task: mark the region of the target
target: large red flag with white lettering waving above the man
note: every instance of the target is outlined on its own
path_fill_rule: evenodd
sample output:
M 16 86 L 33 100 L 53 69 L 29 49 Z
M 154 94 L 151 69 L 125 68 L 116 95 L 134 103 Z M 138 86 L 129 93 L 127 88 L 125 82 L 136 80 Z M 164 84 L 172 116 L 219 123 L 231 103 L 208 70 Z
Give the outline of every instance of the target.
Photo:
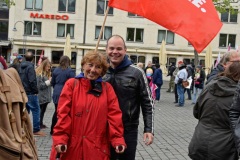
M 110 0 L 186 38 L 200 53 L 222 27 L 212 0 Z

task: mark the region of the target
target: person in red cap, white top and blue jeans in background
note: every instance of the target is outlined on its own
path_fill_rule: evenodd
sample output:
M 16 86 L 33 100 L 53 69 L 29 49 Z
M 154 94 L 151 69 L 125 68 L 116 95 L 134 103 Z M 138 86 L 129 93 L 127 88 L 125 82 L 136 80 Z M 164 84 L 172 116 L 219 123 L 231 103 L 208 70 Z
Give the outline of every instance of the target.
M 178 104 L 176 105 L 176 107 L 183 107 L 185 102 L 185 97 L 184 97 L 184 87 L 182 85 L 182 82 L 187 80 L 188 74 L 186 70 L 186 65 L 183 63 L 183 61 L 178 62 L 178 68 L 179 68 L 179 71 L 174 81 L 175 84 L 177 84 L 177 93 L 178 93 Z

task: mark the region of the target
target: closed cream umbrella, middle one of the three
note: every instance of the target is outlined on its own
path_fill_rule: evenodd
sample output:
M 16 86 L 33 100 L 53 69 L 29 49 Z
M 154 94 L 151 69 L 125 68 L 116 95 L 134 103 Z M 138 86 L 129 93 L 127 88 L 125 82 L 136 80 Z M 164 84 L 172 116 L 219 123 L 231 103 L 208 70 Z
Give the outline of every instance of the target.
M 159 52 L 159 63 L 160 63 L 160 68 L 162 70 L 163 74 L 167 74 L 167 51 L 166 51 L 166 43 L 164 40 L 162 40 L 160 52 Z

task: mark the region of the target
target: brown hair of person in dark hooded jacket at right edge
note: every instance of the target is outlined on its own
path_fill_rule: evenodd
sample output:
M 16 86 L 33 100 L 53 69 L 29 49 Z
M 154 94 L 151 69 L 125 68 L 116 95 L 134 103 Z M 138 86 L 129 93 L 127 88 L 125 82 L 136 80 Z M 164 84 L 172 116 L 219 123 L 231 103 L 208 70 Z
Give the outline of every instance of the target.
M 224 72 L 220 75 L 226 76 L 235 82 L 240 80 L 240 62 L 233 62 Z

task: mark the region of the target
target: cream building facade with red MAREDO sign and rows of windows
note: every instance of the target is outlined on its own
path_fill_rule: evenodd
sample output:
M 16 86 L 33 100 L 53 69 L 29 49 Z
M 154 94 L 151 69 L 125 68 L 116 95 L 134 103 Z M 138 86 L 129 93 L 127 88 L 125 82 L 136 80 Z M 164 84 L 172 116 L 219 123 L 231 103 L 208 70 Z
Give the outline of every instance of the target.
M 16 0 L 15 3 L 9 14 L 8 38 L 13 48 L 8 59 L 31 50 L 35 63 L 44 52 L 57 66 L 69 33 L 72 68 L 79 72 L 84 53 L 96 47 L 108 0 Z M 226 52 L 229 43 L 232 49 L 240 45 L 239 14 L 226 12 L 219 17 L 224 25 L 210 43 L 213 59 L 219 52 Z M 104 52 L 107 38 L 114 34 L 125 39 L 128 55 L 134 63 L 158 63 L 162 40 L 166 41 L 167 64 L 178 60 L 190 63 L 194 59 L 194 48 L 183 37 L 138 15 L 110 8 L 99 51 Z M 199 64 L 203 66 L 205 52 L 206 49 L 199 54 Z

